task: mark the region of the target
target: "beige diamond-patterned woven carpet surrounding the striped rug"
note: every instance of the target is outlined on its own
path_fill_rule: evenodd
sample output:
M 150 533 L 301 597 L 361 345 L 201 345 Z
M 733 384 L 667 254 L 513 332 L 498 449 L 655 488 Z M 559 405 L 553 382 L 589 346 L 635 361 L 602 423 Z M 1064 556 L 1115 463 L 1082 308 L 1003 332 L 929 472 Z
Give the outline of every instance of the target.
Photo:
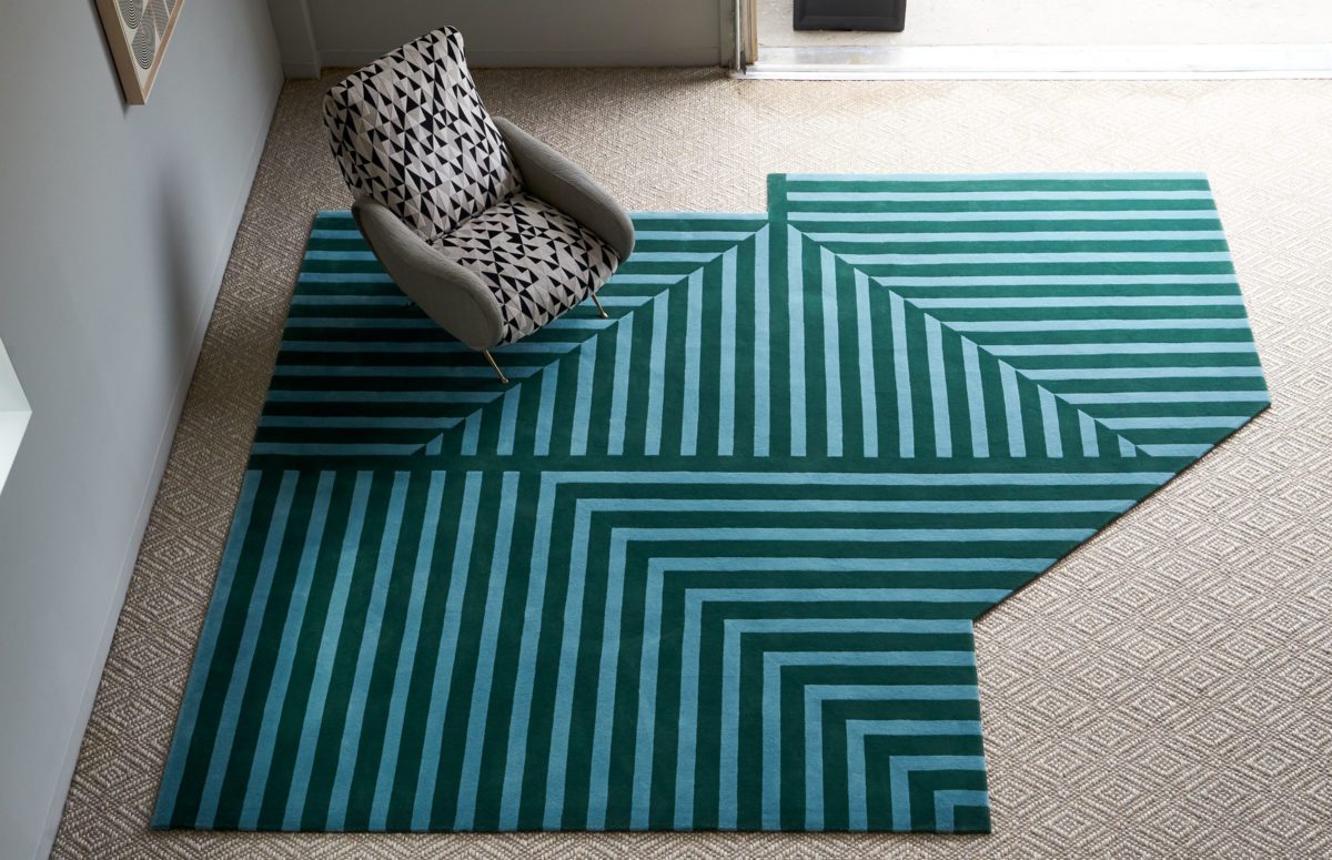
M 151 832 L 309 221 L 349 202 L 318 114 L 332 79 L 293 83 L 55 856 L 1332 855 L 1332 84 L 478 77 L 631 209 L 761 210 L 782 170 L 1207 170 L 1275 405 L 978 623 L 991 836 Z

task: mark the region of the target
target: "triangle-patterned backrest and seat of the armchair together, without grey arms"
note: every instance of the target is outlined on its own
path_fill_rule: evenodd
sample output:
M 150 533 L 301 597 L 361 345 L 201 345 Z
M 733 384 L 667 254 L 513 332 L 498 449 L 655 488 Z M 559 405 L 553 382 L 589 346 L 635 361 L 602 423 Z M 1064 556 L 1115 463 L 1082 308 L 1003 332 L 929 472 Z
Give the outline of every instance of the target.
M 500 343 L 582 302 L 619 265 L 598 236 L 523 193 L 452 27 L 348 77 L 329 91 L 324 114 L 352 192 L 490 286 Z

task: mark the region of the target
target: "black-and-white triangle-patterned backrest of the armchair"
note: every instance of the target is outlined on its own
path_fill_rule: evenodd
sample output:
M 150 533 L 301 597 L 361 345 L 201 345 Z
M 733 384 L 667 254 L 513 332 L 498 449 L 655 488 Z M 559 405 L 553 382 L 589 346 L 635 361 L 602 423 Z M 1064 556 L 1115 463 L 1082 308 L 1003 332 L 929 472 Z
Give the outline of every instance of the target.
M 336 85 L 324 121 L 352 192 L 384 204 L 426 241 L 521 186 L 452 27 Z

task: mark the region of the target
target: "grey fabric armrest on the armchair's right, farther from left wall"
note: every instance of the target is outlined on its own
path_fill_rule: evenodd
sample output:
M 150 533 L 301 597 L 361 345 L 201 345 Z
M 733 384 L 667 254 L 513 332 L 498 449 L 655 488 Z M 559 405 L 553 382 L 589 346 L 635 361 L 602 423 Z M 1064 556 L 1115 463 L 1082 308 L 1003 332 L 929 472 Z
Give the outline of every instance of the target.
M 595 233 L 621 260 L 634 250 L 634 224 L 615 198 L 574 162 L 503 117 L 494 118 L 523 186 Z

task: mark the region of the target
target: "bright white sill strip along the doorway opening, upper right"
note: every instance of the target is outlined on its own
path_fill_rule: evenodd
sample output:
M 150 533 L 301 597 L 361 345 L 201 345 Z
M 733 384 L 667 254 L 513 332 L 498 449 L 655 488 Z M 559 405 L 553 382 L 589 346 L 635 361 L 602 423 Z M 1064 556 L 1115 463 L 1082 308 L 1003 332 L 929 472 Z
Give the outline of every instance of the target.
M 759 47 L 771 80 L 1325 79 L 1332 44 Z

